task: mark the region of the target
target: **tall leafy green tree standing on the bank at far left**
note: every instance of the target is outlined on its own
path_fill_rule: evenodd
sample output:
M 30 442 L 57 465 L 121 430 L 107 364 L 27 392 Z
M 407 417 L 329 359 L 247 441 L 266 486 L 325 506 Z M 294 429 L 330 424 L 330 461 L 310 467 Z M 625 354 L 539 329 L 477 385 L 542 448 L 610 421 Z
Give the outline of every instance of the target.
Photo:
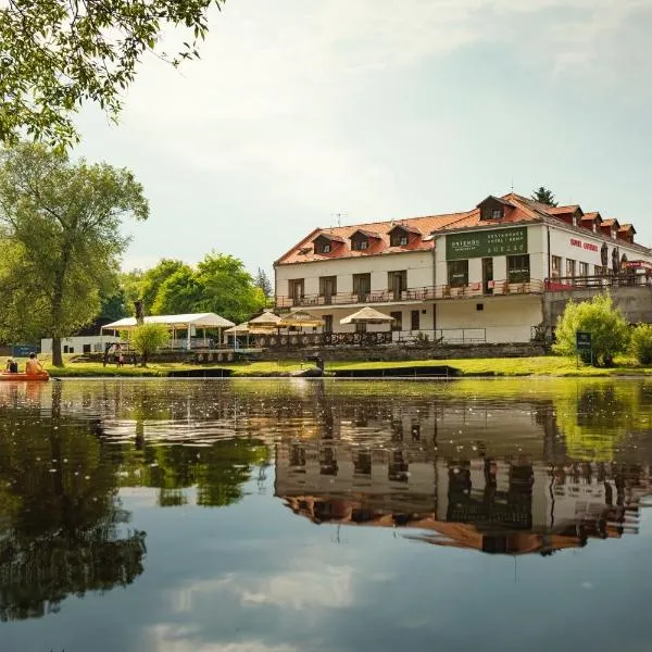
M 60 151 L 21 143 L 0 153 L 0 335 L 61 338 L 98 314 L 128 243 L 124 217 L 146 220 L 142 186 L 125 168 L 72 163 Z

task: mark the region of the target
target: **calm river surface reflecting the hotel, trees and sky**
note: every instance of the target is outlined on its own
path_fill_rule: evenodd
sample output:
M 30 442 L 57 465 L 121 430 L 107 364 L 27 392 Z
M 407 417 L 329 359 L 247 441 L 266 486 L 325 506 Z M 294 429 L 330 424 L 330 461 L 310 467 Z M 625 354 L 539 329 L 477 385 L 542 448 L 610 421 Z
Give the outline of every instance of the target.
M 652 649 L 652 383 L 0 384 L 2 652 Z

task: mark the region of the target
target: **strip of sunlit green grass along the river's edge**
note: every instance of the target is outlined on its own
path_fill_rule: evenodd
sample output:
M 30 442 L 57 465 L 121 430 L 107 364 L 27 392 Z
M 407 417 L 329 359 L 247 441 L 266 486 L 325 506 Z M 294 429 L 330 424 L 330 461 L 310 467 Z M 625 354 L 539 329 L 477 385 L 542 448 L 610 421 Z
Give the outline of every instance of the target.
M 0 363 L 1 364 L 1 363 Z M 251 362 L 236 364 L 197 365 L 183 363 L 152 363 L 147 367 L 115 365 L 104 367 L 99 363 L 74 362 L 70 360 L 63 368 L 52 367 L 49 360 L 43 360 L 46 368 L 52 377 L 166 377 L 174 373 L 193 369 L 215 373 L 227 369 L 233 377 L 274 377 L 287 376 L 292 373 L 311 368 L 301 360 L 285 360 L 279 362 Z M 418 367 L 447 365 L 459 369 L 459 376 L 478 377 L 604 377 L 604 376 L 647 376 L 652 367 L 638 365 L 630 359 L 616 359 L 612 368 L 595 368 L 580 364 L 576 367 L 575 359 L 560 356 L 544 358 L 487 358 L 464 360 L 422 360 L 404 362 L 329 362 L 326 364 L 326 375 L 344 369 L 372 369 L 375 373 L 383 369 L 405 368 L 412 375 Z M 410 371 L 409 371 L 410 369 Z

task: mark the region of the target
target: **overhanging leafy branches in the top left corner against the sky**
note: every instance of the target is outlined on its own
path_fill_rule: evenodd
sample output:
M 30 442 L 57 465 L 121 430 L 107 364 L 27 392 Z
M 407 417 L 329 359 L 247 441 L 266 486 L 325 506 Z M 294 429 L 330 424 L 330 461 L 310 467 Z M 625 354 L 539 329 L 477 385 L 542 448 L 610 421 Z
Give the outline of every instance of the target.
M 8 0 L 0 7 L 0 141 L 25 131 L 50 145 L 77 139 L 72 115 L 96 102 L 116 120 L 148 51 L 173 65 L 197 59 L 208 12 L 225 0 Z M 167 26 L 190 33 L 159 51 Z

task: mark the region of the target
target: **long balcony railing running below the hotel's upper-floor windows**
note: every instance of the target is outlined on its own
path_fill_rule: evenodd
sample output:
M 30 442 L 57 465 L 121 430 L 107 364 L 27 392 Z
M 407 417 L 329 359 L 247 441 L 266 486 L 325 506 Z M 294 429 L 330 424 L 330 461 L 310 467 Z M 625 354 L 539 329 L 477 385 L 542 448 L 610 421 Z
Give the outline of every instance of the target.
M 276 308 L 311 308 L 322 305 L 350 305 L 355 303 L 396 303 L 402 301 L 432 301 L 435 299 L 456 299 L 494 294 L 529 294 L 540 293 L 543 289 L 544 281 L 542 280 L 529 280 L 525 283 L 490 280 L 487 284 L 472 283 L 465 286 L 427 286 L 423 288 L 409 288 L 401 291 L 374 290 L 371 292 L 338 292 L 337 294 L 331 296 L 277 296 Z

